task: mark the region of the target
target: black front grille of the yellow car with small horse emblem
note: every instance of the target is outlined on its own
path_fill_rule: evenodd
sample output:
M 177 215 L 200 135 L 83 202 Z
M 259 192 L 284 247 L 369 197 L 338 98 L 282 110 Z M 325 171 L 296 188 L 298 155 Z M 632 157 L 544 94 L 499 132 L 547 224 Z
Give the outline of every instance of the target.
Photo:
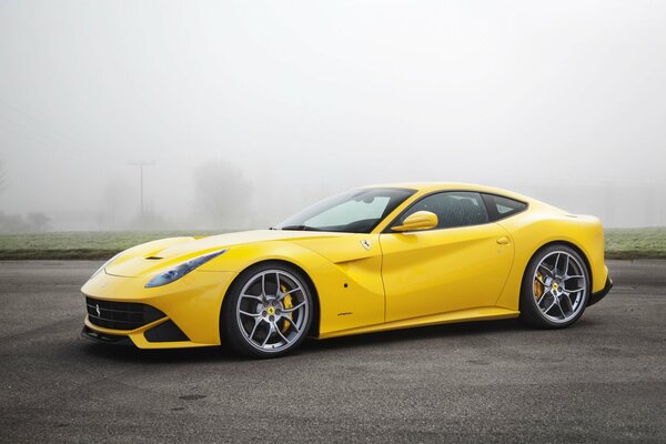
M 113 330 L 134 330 L 165 316 L 147 304 L 137 302 L 111 302 L 85 297 L 88 319 L 94 325 Z

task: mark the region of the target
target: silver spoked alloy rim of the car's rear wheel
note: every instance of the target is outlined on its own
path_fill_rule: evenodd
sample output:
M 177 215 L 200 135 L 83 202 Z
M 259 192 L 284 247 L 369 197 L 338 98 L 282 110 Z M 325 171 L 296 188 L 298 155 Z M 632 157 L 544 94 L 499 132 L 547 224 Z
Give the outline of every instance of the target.
M 566 251 L 546 254 L 534 272 L 532 292 L 536 306 L 551 322 L 562 324 L 574 319 L 587 291 L 587 278 L 581 261 Z

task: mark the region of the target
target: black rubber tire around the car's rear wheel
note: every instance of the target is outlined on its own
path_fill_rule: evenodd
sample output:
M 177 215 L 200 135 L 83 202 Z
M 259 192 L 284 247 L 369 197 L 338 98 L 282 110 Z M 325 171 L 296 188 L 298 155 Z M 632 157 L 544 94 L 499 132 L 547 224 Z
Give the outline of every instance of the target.
M 565 265 L 555 262 L 558 260 L 557 253 L 561 253 L 559 260 L 568 255 Z M 545 262 L 539 266 L 542 261 Z M 554 273 L 553 278 L 551 278 L 546 274 L 548 271 L 553 271 L 548 270 L 548 265 L 553 265 L 554 262 Z M 572 269 L 575 269 L 575 273 L 577 274 L 565 280 L 557 279 L 557 276 L 567 276 L 569 274 L 566 270 L 563 272 L 564 266 L 568 268 L 568 272 L 571 272 Z M 541 280 L 536 274 L 537 268 L 539 269 Z M 582 278 L 575 278 L 578 275 Z M 542 283 L 542 280 L 544 283 Z M 574 280 L 576 282 L 572 284 L 571 282 Z M 551 283 L 551 285 L 545 285 L 546 282 Z M 572 285 L 576 285 L 576 289 L 581 290 L 577 292 L 568 292 L 568 294 L 572 294 L 568 295 L 567 291 L 563 292 L 562 290 L 567 290 L 566 285 L 568 285 L 569 289 L 572 289 Z M 519 303 L 521 320 L 539 329 L 564 329 L 569 326 L 583 315 L 583 312 L 587 306 L 587 301 L 589 300 L 591 287 L 592 281 L 589 279 L 589 270 L 586 262 L 576 250 L 566 244 L 552 244 L 543 248 L 534 254 L 527 264 L 523 276 Z M 559 295 L 556 295 L 557 293 L 559 293 Z M 552 299 L 552 303 L 548 297 Z M 562 297 L 567 297 L 567 300 Z M 539 305 L 537 305 L 537 301 L 541 303 L 541 309 Z M 551 307 L 552 310 L 544 313 L 547 307 Z M 571 309 L 571 312 L 568 309 Z

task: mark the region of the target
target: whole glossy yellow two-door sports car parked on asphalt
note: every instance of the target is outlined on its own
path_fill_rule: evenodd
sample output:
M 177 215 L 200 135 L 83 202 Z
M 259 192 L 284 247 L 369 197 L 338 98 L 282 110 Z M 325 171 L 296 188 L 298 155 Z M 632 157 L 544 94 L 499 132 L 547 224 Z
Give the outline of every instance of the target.
M 305 336 L 517 316 L 564 327 L 612 285 L 597 218 L 488 186 L 376 185 L 270 230 L 118 254 L 81 289 L 82 334 L 269 357 Z

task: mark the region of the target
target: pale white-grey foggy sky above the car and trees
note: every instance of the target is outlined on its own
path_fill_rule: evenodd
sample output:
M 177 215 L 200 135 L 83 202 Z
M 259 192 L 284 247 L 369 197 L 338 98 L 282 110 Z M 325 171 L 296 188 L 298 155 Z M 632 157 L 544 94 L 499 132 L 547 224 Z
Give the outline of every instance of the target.
M 435 180 L 666 224 L 665 23 L 662 1 L 2 0 L 0 211 L 109 228 L 144 160 L 147 204 L 203 226 L 194 174 L 223 161 L 246 226 Z

